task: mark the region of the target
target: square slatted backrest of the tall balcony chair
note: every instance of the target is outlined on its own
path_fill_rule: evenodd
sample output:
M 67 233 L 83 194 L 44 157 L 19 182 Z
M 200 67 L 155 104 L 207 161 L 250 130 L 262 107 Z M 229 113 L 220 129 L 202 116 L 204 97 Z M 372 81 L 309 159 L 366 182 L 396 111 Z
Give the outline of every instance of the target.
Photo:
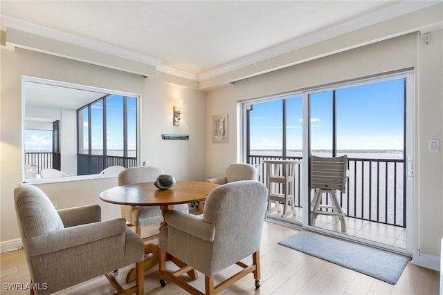
M 347 155 L 324 158 L 311 155 L 311 189 L 346 192 Z

